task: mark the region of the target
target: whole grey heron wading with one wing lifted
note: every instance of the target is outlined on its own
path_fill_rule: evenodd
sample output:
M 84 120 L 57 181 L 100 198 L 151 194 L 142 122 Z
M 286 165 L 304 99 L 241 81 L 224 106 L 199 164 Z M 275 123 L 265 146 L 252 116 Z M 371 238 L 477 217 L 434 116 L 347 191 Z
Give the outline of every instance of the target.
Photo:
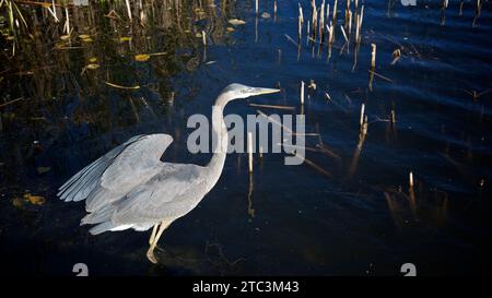
M 87 214 L 81 225 L 95 225 L 92 235 L 107 230 L 148 230 L 148 259 L 156 263 L 155 246 L 174 220 L 194 210 L 215 186 L 227 152 L 225 105 L 238 98 L 276 93 L 279 90 L 231 84 L 215 99 L 212 133 L 216 140 L 210 163 L 202 167 L 161 162 L 173 142 L 168 134 L 136 135 L 93 162 L 59 188 L 66 201 L 85 200 Z

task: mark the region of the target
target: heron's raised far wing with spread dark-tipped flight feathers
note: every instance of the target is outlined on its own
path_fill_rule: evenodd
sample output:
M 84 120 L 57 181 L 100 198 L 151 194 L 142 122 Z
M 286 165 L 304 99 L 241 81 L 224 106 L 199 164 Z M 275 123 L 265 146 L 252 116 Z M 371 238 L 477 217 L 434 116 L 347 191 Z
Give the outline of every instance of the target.
M 133 136 L 75 174 L 60 187 L 58 196 L 66 202 L 87 199 L 87 211 L 102 207 L 105 200 L 117 200 L 155 175 L 172 142 L 168 134 Z

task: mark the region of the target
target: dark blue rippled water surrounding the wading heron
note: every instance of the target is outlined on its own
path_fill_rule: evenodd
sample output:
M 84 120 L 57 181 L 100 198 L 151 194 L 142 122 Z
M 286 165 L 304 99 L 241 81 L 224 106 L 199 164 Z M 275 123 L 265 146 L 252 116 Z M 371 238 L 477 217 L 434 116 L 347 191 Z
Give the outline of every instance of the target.
M 91 274 L 104 275 L 399 275 L 407 262 L 422 275 L 488 271 L 490 2 L 483 1 L 476 17 L 475 1 L 464 1 L 462 15 L 459 1 L 449 1 L 444 14 L 441 1 L 417 1 L 418 7 L 365 1 L 359 51 L 351 41 L 349 52 L 341 52 L 344 40 L 337 28 L 329 58 L 326 45 L 318 52 L 318 44 L 306 45 L 304 35 L 298 52 L 285 37 L 297 40 L 297 1 L 278 1 L 276 17 L 273 1 L 260 1 L 260 12 L 271 17 L 257 20 L 254 1 L 227 7 L 215 1 L 202 11 L 184 2 L 179 29 L 165 16 L 150 17 L 154 25 L 144 28 L 114 24 L 102 15 L 107 7 L 92 3 L 90 17 L 81 9 L 73 21 L 92 43 L 55 49 L 60 38 L 46 29 L 51 35 L 44 33 L 46 39 L 37 37 L 42 41 L 24 45 L 2 64 L 0 104 L 24 98 L 0 108 L 2 274 L 71 275 L 80 262 Z M 302 1 L 305 19 L 311 19 L 308 2 Z M 122 8 L 118 13 L 126 20 Z M 233 17 L 246 24 L 227 33 Z M 202 29 L 209 36 L 206 52 L 196 37 Z M 119 41 L 124 36 L 132 41 Z M 375 72 L 389 81 L 376 75 L 370 88 L 372 43 Z M 390 64 L 399 47 L 402 56 Z M 134 61 L 142 52 L 160 55 Z M 99 68 L 81 73 L 92 57 Z M 284 166 L 281 154 L 265 154 L 261 162 L 256 156 L 248 200 L 247 156 L 229 155 L 215 188 L 164 233 L 159 266 L 145 258 L 149 233 L 91 236 L 86 226 L 79 227 L 83 203 L 56 198 L 70 176 L 138 133 L 169 133 L 175 143 L 164 159 L 204 165 L 210 156 L 186 151 L 191 132 L 186 121 L 194 114 L 210 116 L 224 86 L 280 85 L 281 94 L 249 102 L 294 106 L 298 114 L 300 82 L 311 80 L 317 88 L 308 91 L 304 105 L 306 131 L 320 138 L 307 136 L 306 145 L 323 142 L 335 155 L 308 151 L 306 158 L 331 177 L 308 165 Z M 120 90 L 105 81 L 141 87 Z M 473 98 L 473 91 L 482 94 Z M 360 142 L 362 103 L 370 124 Z M 234 102 L 226 112 L 246 117 L 256 109 Z M 391 109 L 395 124 L 388 121 Z M 26 202 L 25 193 L 46 202 Z

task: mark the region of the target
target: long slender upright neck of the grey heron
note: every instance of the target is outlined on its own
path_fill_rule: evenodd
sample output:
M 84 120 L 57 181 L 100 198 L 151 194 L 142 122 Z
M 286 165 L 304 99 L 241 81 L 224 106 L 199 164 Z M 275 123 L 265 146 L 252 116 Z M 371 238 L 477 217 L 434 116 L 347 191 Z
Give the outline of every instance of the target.
M 224 122 L 224 107 L 227 104 L 229 98 L 224 95 L 219 96 L 215 100 L 215 105 L 212 107 L 212 143 L 213 143 L 213 156 L 210 163 L 207 165 L 207 169 L 210 175 L 209 190 L 215 186 L 216 181 L 221 177 L 222 169 L 225 164 L 225 156 L 227 154 L 229 135 L 227 128 Z

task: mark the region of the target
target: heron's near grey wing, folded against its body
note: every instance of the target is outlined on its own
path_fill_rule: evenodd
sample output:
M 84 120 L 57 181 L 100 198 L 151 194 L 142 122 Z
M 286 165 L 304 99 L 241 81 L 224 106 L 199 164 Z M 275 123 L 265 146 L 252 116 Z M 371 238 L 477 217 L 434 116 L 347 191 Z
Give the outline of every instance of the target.
M 207 193 L 204 174 L 197 165 L 165 163 L 157 175 L 117 203 L 113 224 L 157 223 L 187 214 Z

